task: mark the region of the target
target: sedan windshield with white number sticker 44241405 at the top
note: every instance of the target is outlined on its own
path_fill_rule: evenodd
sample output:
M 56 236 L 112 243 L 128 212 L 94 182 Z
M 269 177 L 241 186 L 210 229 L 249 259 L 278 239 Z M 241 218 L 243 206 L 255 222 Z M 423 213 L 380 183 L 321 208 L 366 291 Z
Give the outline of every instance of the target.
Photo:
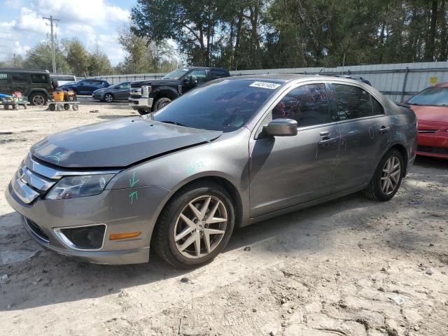
M 267 101 L 281 83 L 251 79 L 210 82 L 184 94 L 154 113 L 153 119 L 202 130 L 232 132 Z

